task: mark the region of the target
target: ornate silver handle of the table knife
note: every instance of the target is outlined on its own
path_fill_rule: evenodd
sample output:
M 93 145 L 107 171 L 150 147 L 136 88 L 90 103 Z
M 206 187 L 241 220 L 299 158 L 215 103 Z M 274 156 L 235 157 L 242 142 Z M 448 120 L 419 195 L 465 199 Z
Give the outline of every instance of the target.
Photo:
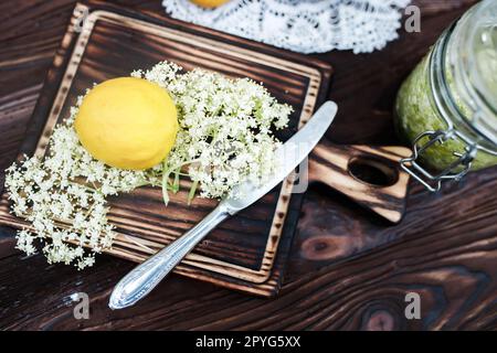
M 184 256 L 187 256 L 218 224 L 229 216 L 220 203 L 205 218 L 177 240 L 135 267 L 114 288 L 108 306 L 123 309 L 147 296 Z

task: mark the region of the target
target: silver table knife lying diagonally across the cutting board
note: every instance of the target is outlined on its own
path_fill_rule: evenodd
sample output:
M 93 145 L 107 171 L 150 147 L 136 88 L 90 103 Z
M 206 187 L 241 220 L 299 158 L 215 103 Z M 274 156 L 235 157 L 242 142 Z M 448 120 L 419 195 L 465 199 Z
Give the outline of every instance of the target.
M 273 172 L 262 185 L 245 181 L 233 189 L 232 195 L 222 200 L 205 218 L 134 268 L 114 288 L 110 309 L 123 309 L 135 304 L 147 296 L 215 226 L 226 217 L 248 207 L 282 182 L 311 152 L 337 115 L 334 101 L 325 103 L 318 111 L 289 140 L 276 151 L 283 165 Z M 297 152 L 298 151 L 298 152 Z M 292 158 L 288 158 L 290 156 Z

